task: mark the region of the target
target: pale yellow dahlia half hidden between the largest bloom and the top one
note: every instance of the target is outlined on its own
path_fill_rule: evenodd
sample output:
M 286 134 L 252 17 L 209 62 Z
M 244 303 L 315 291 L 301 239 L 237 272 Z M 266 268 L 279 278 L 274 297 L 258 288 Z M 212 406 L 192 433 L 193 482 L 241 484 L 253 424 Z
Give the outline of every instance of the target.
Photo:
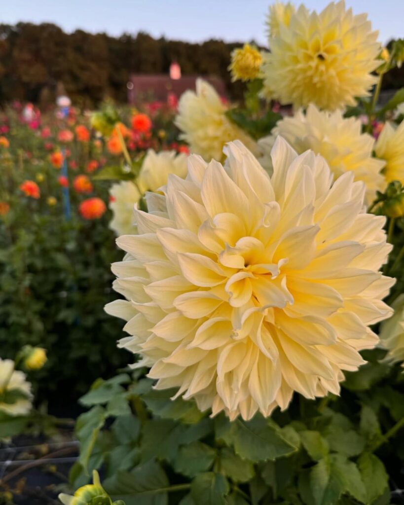
M 384 161 L 372 157 L 375 140 L 362 133 L 362 123 L 355 117 L 344 118 L 341 111 L 322 112 L 310 104 L 306 114 L 298 110 L 293 117 L 278 121 L 272 134 L 259 140 L 261 164 L 271 168 L 271 149 L 280 135 L 298 154 L 312 149 L 323 156 L 335 178 L 351 170 L 355 180 L 366 184 L 367 203 L 375 199 L 376 190 L 386 186 L 380 170 Z

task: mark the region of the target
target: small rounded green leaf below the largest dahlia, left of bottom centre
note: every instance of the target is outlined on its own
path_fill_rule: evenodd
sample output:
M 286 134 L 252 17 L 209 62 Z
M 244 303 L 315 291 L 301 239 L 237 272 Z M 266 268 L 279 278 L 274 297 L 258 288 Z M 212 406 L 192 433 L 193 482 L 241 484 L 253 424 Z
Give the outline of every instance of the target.
M 216 451 L 202 442 L 192 442 L 181 447 L 174 460 L 174 470 L 187 477 L 206 472 L 213 465 Z

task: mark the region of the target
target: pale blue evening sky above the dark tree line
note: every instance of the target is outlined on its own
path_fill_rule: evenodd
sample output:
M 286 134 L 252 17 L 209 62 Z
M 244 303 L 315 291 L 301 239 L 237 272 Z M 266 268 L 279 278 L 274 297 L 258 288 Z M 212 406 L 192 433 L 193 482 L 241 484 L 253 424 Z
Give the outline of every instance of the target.
M 82 28 L 111 35 L 146 31 L 153 36 L 201 41 L 255 39 L 265 44 L 264 20 L 271 0 L 12 0 L 2 2 L 3 23 L 49 21 L 67 31 Z M 301 2 L 294 2 L 295 5 Z M 306 0 L 321 10 L 327 0 Z M 347 0 L 354 13 L 367 12 L 379 39 L 404 37 L 402 0 Z

